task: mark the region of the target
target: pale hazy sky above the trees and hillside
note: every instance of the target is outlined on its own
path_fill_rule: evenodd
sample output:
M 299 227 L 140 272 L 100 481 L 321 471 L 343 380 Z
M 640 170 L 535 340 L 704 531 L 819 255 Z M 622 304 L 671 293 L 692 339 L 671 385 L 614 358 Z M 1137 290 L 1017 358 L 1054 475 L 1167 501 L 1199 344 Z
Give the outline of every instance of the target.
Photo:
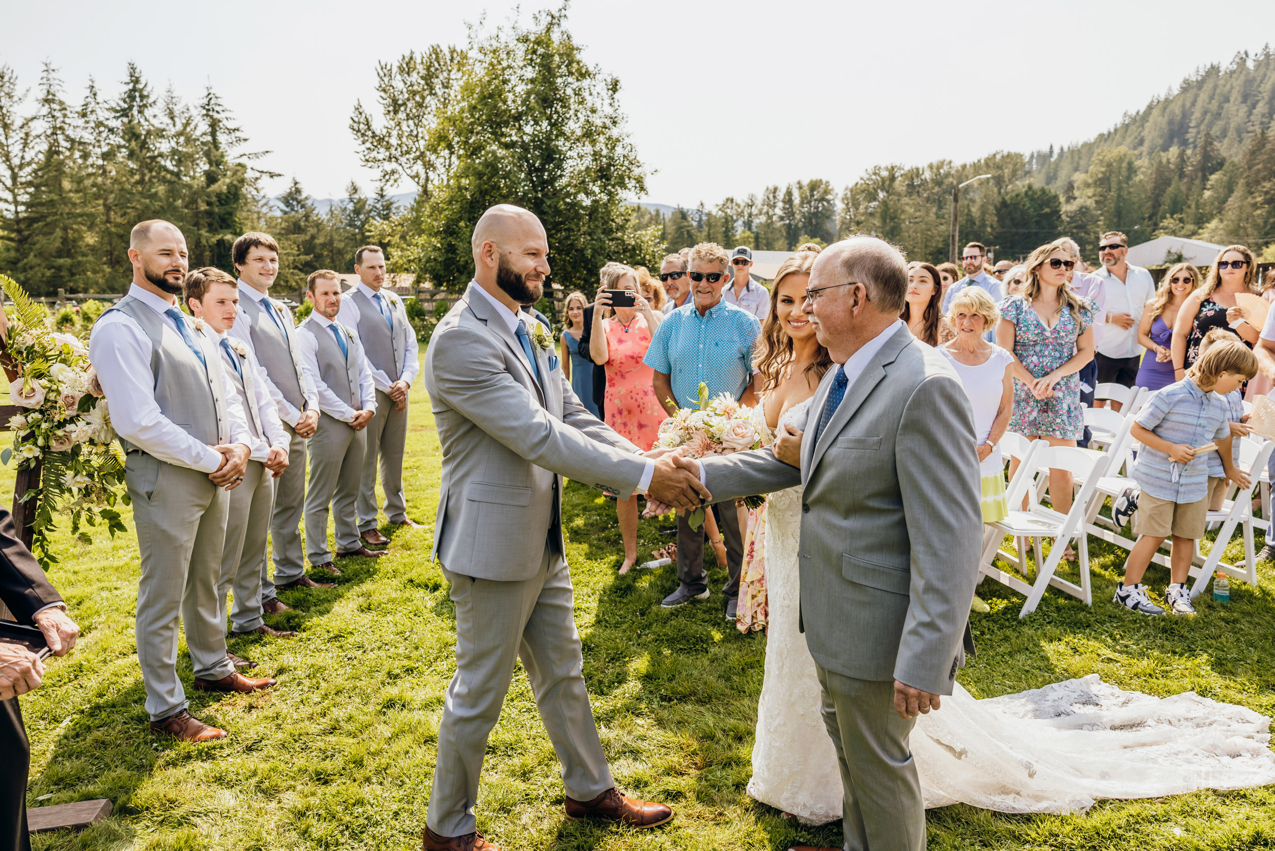
M 521 4 L 528 18 L 557 3 Z M 27 84 L 61 69 L 78 101 L 115 94 L 125 63 L 196 100 L 212 83 L 263 167 L 317 196 L 370 188 L 348 124 L 375 103 L 375 68 L 507 0 L 131 3 L 0 0 L 0 63 Z M 622 83 L 650 176 L 644 200 L 694 205 L 866 168 L 1086 139 L 1210 63 L 1275 33 L 1270 0 L 862 3 L 576 0 L 570 29 Z M 20 37 L 19 37 L 20 36 Z M 409 189 L 403 186 L 402 189 Z

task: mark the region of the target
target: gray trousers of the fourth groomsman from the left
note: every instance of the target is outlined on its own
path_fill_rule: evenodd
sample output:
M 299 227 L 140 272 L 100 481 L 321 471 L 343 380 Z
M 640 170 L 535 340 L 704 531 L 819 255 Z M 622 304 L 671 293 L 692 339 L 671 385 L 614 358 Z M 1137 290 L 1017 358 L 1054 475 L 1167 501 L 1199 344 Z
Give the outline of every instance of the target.
M 363 471 L 363 434 L 335 417 L 319 415 L 319 429 L 310 438 L 310 487 L 306 491 L 306 556 L 310 564 L 332 561 L 332 550 L 328 549 L 329 503 L 337 515 L 337 551 L 349 552 L 362 546 L 354 522 L 354 503 Z

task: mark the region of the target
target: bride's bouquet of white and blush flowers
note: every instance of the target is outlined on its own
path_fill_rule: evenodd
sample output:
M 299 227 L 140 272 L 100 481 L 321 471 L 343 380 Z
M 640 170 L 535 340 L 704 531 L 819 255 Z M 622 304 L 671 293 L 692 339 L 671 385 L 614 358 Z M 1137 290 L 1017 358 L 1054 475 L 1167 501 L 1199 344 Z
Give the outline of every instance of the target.
M 757 449 L 773 439 L 765 417 L 754 416 L 754 408 L 740 404 L 729 393 L 710 399 L 708 385 L 700 381 L 700 408 L 682 408 L 660 422 L 654 448 L 681 449 L 687 458 L 709 458 Z M 737 501 L 759 508 L 765 500 L 765 496 L 746 496 Z M 687 522 L 691 528 L 699 528 L 704 523 L 704 509 L 691 512 Z

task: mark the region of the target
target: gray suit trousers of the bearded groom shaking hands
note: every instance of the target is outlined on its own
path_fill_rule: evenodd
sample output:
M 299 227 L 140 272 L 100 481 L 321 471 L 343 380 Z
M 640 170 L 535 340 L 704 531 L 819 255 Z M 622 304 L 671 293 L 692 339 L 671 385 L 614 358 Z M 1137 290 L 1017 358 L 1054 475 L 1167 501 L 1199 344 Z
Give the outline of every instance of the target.
M 588 801 L 615 786 L 584 686 L 571 572 L 562 555 L 546 546 L 539 573 L 521 582 L 442 573 L 456 603 L 456 674 L 439 725 L 439 760 L 426 815 L 430 829 L 439 836 L 474 831 L 487 736 L 500 717 L 518 658 L 562 764 L 566 794 Z

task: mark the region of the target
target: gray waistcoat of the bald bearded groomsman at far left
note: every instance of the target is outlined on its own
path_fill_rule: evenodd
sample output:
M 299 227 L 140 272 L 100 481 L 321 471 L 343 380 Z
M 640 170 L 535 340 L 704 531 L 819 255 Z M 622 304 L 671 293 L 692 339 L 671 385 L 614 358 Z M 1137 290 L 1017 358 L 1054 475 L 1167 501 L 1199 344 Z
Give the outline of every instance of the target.
M 110 310 L 131 316 L 150 339 L 150 371 L 159 412 L 200 443 L 210 447 L 228 443 L 229 422 L 219 375 L 205 369 L 181 334 L 138 299 L 125 296 Z M 207 337 L 186 322 L 195 344 L 207 343 Z M 221 352 L 207 344 L 203 351 L 209 365 L 221 366 Z M 135 448 L 122 438 L 120 443 L 125 452 Z

